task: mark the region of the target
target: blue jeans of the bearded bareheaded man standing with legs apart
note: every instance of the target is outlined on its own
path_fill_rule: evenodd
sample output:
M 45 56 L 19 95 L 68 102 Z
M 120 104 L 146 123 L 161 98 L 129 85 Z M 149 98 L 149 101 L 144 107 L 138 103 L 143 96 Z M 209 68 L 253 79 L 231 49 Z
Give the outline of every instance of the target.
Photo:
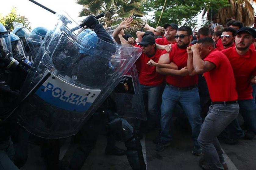
M 192 90 L 178 90 L 171 85 L 166 85 L 162 95 L 161 105 L 161 141 L 171 141 L 172 113 L 176 104 L 180 103 L 188 117 L 192 128 L 192 139 L 194 145 L 198 145 L 197 137 L 200 133 L 202 119 L 200 117 L 201 107 L 198 88 Z

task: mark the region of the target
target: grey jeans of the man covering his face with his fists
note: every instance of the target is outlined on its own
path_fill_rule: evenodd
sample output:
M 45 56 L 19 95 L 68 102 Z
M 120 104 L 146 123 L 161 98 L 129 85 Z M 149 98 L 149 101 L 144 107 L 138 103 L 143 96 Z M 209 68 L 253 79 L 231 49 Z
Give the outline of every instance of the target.
M 221 163 L 225 161 L 217 136 L 237 117 L 238 113 L 238 103 L 215 104 L 209 107 L 197 140 L 211 169 L 224 169 Z

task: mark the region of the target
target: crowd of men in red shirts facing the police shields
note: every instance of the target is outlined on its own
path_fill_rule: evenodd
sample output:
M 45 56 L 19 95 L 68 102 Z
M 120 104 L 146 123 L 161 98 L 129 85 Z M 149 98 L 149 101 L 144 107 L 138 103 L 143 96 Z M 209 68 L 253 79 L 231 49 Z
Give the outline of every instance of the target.
M 142 49 L 136 67 L 148 116 L 146 129 L 159 130 L 155 150 L 170 145 L 172 115 L 183 112 L 192 129 L 192 153 L 204 154 L 200 167 L 227 170 L 218 138 L 235 144 L 256 134 L 255 29 L 235 19 L 222 26 L 216 18 L 198 31 L 175 23 L 156 28 L 147 24 L 146 32 L 132 37 L 123 31 L 131 22 L 124 19 L 113 38 Z M 140 122 L 135 127 L 142 128 Z

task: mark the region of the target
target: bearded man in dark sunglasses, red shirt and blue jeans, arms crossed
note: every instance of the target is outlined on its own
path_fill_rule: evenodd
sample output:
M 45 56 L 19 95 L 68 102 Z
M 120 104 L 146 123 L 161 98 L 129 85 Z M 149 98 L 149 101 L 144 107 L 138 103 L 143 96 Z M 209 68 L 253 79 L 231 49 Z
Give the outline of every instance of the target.
M 166 86 L 162 94 L 161 105 L 161 139 L 155 147 L 156 151 L 163 151 L 172 141 L 170 131 L 172 124 L 172 113 L 178 103 L 185 111 L 192 128 L 192 138 L 194 155 L 201 155 L 202 150 L 197 142 L 197 137 L 201 128 L 201 107 L 197 88 L 198 76 L 189 76 L 187 70 L 187 47 L 192 40 L 192 29 L 182 26 L 177 30 L 176 44 L 172 46 L 170 53 L 163 54 L 156 67 L 156 72 L 166 75 Z M 173 62 L 178 69 L 170 68 Z

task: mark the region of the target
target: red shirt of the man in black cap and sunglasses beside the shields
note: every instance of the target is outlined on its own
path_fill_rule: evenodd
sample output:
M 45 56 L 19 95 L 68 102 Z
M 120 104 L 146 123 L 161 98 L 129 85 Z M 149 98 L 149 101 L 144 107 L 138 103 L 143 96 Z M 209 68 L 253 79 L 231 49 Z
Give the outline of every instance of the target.
M 160 49 L 157 49 L 155 55 L 152 57 L 148 57 L 147 54 L 142 53 L 136 61 L 136 67 L 140 70 L 140 84 L 145 86 L 159 86 L 163 83 L 164 76 L 155 71 L 156 66 L 149 66 L 147 64 L 150 59 L 158 63 L 161 53 L 162 50 Z

